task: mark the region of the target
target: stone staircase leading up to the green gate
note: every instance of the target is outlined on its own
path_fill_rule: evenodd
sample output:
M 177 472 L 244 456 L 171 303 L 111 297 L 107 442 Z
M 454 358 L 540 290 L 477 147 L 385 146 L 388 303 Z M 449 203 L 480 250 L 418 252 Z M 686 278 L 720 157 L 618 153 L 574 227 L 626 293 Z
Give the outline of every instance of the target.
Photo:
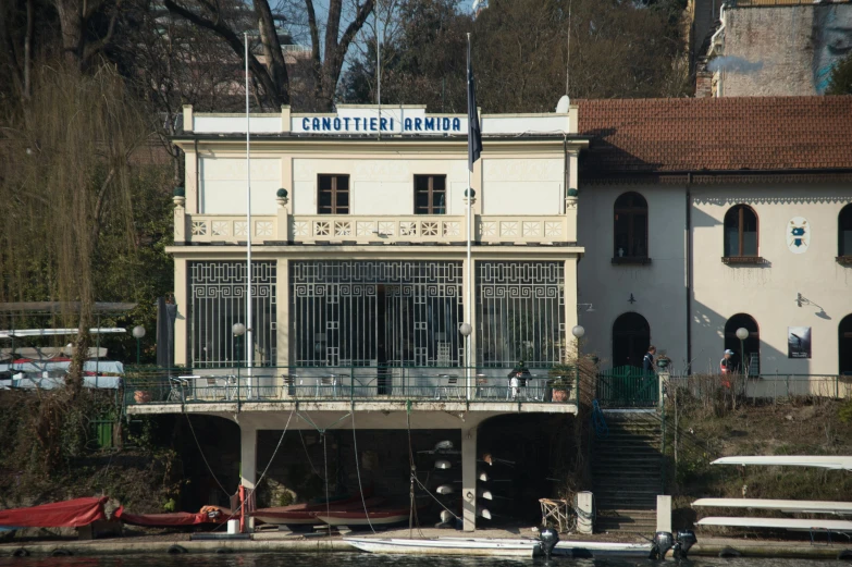
M 657 494 L 663 494 L 663 432 L 656 410 L 604 411 L 609 429 L 592 439 L 595 531 L 656 531 Z

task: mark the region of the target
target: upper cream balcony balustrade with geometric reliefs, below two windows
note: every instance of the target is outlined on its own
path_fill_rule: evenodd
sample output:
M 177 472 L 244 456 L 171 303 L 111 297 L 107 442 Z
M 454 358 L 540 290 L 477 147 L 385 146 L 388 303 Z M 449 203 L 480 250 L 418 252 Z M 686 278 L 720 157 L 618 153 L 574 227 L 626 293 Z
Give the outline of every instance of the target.
M 245 217 L 189 214 L 175 209 L 175 242 L 236 244 L 247 241 Z M 312 244 L 449 244 L 466 242 L 464 215 L 256 215 L 251 242 Z M 473 239 L 485 244 L 577 242 L 573 215 L 474 215 Z

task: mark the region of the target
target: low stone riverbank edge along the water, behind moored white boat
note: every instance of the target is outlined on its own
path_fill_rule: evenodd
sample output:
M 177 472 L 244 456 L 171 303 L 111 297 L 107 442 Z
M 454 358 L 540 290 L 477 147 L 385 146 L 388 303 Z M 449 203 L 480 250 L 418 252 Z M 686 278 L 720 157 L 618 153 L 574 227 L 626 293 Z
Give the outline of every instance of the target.
M 529 530 L 478 530 L 477 538 L 530 538 Z M 529 532 L 529 533 L 528 533 Z M 246 554 L 246 553 L 336 553 L 357 552 L 343 541 L 339 535 L 305 537 L 304 534 L 285 534 L 267 532 L 252 534 L 249 540 L 215 540 L 192 541 L 188 533 L 172 533 L 158 535 L 136 535 L 113 540 L 97 541 L 29 541 L 0 544 L 0 556 L 13 556 L 15 552 L 29 556 L 50 556 L 57 552 L 75 556 L 103 555 L 166 555 L 170 553 L 188 554 Z M 367 538 L 408 538 L 408 529 L 388 530 L 378 534 L 359 533 Z M 415 538 L 465 537 L 462 532 L 436 529 L 415 530 Z M 616 538 L 605 535 L 564 534 L 563 540 L 571 541 L 615 541 Z M 643 541 L 641 538 L 617 538 L 618 541 Z M 23 550 L 23 552 L 21 552 Z M 737 538 L 705 537 L 699 533 L 699 543 L 690 551 L 691 556 L 717 557 L 723 553 L 734 556 L 754 558 L 801 558 L 801 559 L 837 559 L 841 554 L 852 553 L 850 543 L 817 543 L 807 541 L 751 540 Z

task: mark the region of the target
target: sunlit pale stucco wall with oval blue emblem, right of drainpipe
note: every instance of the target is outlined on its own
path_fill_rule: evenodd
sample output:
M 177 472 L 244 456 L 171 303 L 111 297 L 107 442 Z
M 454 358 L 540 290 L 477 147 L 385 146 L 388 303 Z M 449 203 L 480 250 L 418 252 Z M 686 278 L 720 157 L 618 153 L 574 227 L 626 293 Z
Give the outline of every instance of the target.
M 839 185 L 716 186 L 693 189 L 693 357 L 718 363 L 725 322 L 752 316 L 761 333 L 762 373 L 831 374 L 838 371 L 838 324 L 852 313 L 852 269 L 835 261 L 838 213 L 852 201 Z M 762 267 L 721 263 L 725 212 L 737 204 L 758 217 Z M 806 252 L 793 254 L 787 226 L 803 217 L 812 227 Z M 815 305 L 797 305 L 797 294 Z M 822 309 L 820 309 L 822 308 Z M 824 311 L 823 311 L 824 310 Z M 812 358 L 790 359 L 787 328 L 812 328 Z

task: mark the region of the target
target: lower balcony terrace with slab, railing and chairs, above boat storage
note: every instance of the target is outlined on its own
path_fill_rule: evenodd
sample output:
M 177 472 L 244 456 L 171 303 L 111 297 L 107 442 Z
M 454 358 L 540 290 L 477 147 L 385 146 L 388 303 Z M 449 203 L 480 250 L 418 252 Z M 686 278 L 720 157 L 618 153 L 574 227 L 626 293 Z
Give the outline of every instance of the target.
M 546 369 L 509 379 L 510 368 L 257 367 L 128 372 L 128 414 L 281 411 L 282 407 L 363 410 L 577 412 L 579 380 Z

